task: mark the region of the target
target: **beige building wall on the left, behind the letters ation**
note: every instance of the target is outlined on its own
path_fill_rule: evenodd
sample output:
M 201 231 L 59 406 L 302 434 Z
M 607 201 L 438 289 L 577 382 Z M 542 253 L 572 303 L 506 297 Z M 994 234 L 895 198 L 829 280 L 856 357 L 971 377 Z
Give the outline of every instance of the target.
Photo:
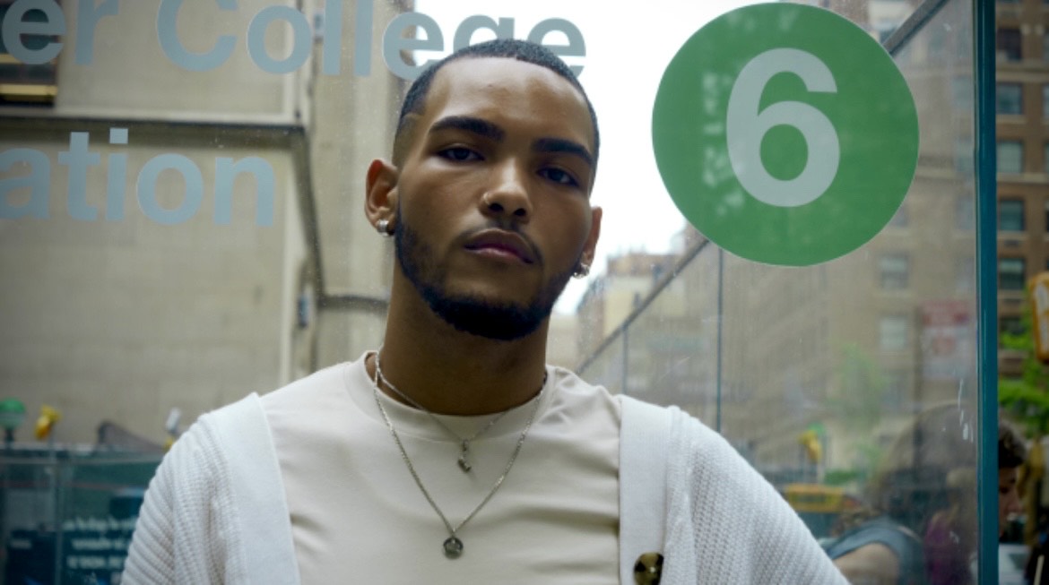
M 404 82 L 350 41 L 379 46 L 405 7 L 38 4 L 23 21 L 66 32 L 2 56 L 0 397 L 30 424 L 58 408 L 59 441 L 108 420 L 160 442 L 173 408 L 185 425 L 373 347 L 390 243 L 363 172 Z

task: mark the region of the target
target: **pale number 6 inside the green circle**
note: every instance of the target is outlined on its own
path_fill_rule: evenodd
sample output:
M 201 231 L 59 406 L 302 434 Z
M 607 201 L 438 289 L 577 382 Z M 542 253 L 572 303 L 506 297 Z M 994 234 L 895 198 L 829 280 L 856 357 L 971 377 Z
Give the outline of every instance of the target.
M 836 93 L 834 75 L 816 56 L 792 48 L 774 48 L 750 60 L 732 86 L 728 101 L 726 140 L 729 160 L 740 183 L 755 199 L 780 208 L 812 202 L 834 181 L 841 147 L 834 125 L 802 102 L 777 102 L 758 112 L 762 92 L 778 73 L 793 73 L 809 91 Z M 805 169 L 796 177 L 772 176 L 762 161 L 762 139 L 775 126 L 793 126 L 809 150 Z

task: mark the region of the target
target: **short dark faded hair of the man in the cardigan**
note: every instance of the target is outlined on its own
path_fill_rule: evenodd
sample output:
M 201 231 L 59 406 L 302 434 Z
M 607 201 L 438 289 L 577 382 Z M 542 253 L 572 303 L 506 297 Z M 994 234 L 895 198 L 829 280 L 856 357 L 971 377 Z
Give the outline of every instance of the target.
M 576 79 L 572 69 L 569 68 L 564 61 L 561 61 L 559 57 L 554 55 L 553 51 L 540 44 L 533 43 L 531 41 L 521 41 L 518 39 L 495 39 L 493 41 L 469 45 L 449 55 L 448 57 L 427 67 L 423 70 L 419 78 L 412 82 L 411 87 L 408 88 L 408 93 L 405 94 L 404 104 L 401 105 L 401 116 L 398 118 L 397 133 L 393 136 L 394 165 L 401 164 L 407 149 L 407 145 L 404 144 L 404 140 L 407 138 L 407 135 L 409 134 L 408 130 L 411 126 L 408 115 L 423 113 L 423 109 L 426 107 L 426 99 L 430 93 L 430 86 L 433 84 L 433 79 L 436 77 L 437 71 L 440 71 L 445 65 L 461 59 L 484 58 L 515 59 L 517 61 L 523 61 L 524 63 L 531 63 L 533 65 L 550 69 L 561 78 L 568 80 L 568 82 L 571 83 L 580 94 L 582 94 L 583 100 L 586 102 L 586 110 L 590 112 L 591 124 L 594 126 L 594 161 L 595 164 L 597 162 L 598 151 L 600 150 L 601 144 L 600 134 L 597 130 L 597 113 L 594 112 L 594 105 L 591 104 L 590 98 L 586 95 L 586 91 L 583 89 L 583 86 L 580 85 L 579 80 Z

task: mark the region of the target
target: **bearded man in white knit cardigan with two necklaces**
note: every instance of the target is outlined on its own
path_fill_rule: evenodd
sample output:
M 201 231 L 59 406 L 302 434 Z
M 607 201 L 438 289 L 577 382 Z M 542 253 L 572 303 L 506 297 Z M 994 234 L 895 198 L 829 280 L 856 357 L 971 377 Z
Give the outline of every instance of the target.
M 126 583 L 843 583 L 716 434 L 544 364 L 594 258 L 598 143 L 538 45 L 424 72 L 367 173 L 397 248 L 383 346 L 201 417 Z

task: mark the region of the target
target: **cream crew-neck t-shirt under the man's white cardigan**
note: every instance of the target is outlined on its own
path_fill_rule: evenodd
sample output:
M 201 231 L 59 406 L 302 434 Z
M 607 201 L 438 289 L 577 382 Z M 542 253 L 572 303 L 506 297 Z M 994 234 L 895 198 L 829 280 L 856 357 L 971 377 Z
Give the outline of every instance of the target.
M 412 479 L 379 412 L 363 358 L 262 398 L 303 584 L 618 583 L 620 406 L 548 367 L 535 421 L 501 488 L 457 533 Z M 497 391 L 497 389 L 493 389 Z M 379 393 L 426 490 L 457 525 L 502 474 L 535 404 L 459 445 L 427 414 Z M 470 437 L 495 415 L 441 416 Z

